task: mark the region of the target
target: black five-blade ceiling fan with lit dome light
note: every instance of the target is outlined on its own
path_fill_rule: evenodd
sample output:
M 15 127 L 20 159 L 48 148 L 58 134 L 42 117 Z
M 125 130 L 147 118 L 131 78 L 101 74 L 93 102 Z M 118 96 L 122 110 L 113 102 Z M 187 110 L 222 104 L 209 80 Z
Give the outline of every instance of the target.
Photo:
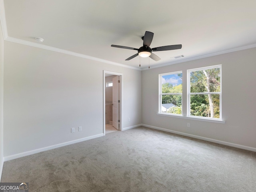
M 159 61 L 161 58 L 158 57 L 156 54 L 152 53 L 152 51 L 167 51 L 167 50 L 175 50 L 175 49 L 181 49 L 182 45 L 167 45 L 167 46 L 161 46 L 161 47 L 155 47 L 155 48 L 150 48 L 150 44 L 152 42 L 154 33 L 146 31 L 145 35 L 142 37 L 143 40 L 143 46 L 140 48 L 132 48 L 132 47 L 126 47 L 126 46 L 120 46 L 120 45 L 111 45 L 112 47 L 117 47 L 117 48 L 123 48 L 123 49 L 132 49 L 132 50 L 137 50 L 138 53 L 134 54 L 133 56 L 130 56 L 129 58 L 126 59 L 126 61 L 131 60 L 132 58 L 136 56 L 141 56 L 141 57 L 150 57 L 155 61 Z

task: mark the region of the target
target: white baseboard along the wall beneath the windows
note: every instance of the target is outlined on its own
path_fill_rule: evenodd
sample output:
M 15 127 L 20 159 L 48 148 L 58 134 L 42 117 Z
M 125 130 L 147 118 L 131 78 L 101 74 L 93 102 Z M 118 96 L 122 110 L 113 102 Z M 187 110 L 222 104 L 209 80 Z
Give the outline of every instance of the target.
M 220 140 L 216 140 L 216 139 L 201 137 L 201 136 L 197 136 L 197 135 L 187 134 L 187 133 L 183 133 L 183 132 L 173 131 L 173 130 L 164 129 L 164 128 L 160 128 L 160 127 L 155 127 L 155 126 L 150 126 L 150 125 L 145 125 L 145 124 L 142 124 L 142 126 L 256 152 L 256 148 L 253 148 L 253 147 L 248 147 L 248 146 L 239 145 L 239 144 L 235 144 L 235 143 L 229 143 L 229 142 L 225 142 L 225 141 L 220 141 Z

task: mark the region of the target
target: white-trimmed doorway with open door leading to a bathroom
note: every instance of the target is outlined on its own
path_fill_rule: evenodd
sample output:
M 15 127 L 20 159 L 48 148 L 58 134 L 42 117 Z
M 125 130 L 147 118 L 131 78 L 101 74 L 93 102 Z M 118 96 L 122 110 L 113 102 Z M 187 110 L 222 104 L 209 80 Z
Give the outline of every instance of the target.
M 103 133 L 122 130 L 122 74 L 104 71 Z

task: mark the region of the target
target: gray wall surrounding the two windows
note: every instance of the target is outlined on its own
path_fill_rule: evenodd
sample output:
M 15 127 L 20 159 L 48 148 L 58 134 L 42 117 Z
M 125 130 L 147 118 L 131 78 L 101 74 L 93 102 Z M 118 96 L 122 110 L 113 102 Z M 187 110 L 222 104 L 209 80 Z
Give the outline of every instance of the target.
M 256 48 L 193 60 L 142 72 L 142 123 L 256 148 Z M 158 74 L 222 64 L 222 118 L 225 124 L 159 116 Z M 186 84 L 183 84 L 186 105 Z M 183 108 L 184 109 L 184 108 Z M 190 123 L 190 127 L 187 127 Z

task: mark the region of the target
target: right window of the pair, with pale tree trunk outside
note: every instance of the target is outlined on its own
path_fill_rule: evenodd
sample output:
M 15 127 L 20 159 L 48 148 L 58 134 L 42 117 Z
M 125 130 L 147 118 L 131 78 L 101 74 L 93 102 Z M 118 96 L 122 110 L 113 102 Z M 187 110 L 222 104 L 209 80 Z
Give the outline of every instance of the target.
M 188 116 L 221 119 L 221 65 L 188 70 Z

